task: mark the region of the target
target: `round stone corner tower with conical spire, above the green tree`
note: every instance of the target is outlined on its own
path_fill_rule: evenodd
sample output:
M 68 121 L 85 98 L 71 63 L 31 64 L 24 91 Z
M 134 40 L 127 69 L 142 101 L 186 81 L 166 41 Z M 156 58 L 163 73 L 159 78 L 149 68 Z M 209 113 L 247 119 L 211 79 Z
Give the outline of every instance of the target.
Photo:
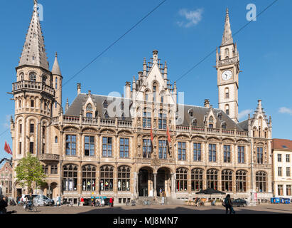
M 16 162 L 28 153 L 38 156 L 49 150 L 47 126 L 52 117 L 55 90 L 37 9 L 35 1 L 31 24 L 16 67 L 16 82 L 12 84 L 15 120 L 11 135 L 13 160 Z

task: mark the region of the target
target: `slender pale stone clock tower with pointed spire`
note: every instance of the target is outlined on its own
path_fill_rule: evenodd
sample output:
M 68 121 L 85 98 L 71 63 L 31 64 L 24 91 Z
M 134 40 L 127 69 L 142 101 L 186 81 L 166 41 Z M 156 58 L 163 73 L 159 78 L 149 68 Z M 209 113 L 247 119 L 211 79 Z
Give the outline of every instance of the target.
M 216 69 L 219 108 L 238 123 L 239 53 L 233 42 L 228 9 L 220 52 L 218 48 L 216 51 Z

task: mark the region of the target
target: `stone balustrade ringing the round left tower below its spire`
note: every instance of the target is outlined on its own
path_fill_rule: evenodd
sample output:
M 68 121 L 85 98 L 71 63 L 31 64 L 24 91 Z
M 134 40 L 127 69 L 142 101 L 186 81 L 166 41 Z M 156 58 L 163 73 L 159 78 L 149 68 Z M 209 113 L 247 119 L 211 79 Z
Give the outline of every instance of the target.
M 50 95 L 55 95 L 55 90 L 52 87 L 45 85 L 45 83 L 40 83 L 36 81 L 18 81 L 12 84 L 13 92 L 21 89 L 40 90 L 45 93 L 49 93 Z

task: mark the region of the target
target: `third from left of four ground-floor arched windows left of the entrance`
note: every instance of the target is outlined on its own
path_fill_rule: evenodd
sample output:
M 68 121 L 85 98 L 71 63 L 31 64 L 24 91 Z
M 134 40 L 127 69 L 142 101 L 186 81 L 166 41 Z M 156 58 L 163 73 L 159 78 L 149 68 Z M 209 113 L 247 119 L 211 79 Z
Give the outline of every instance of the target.
M 100 191 L 114 191 L 114 167 L 111 165 L 100 167 Z

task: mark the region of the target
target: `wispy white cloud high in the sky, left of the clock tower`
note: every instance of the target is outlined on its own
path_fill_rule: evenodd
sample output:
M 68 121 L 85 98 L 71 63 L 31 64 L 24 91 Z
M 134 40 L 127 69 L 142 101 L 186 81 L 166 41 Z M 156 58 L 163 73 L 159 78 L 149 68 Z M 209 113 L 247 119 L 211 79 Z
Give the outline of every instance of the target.
M 202 20 L 203 9 L 196 9 L 195 11 L 190 11 L 188 9 L 180 9 L 178 14 L 185 18 L 184 21 L 177 21 L 176 24 L 180 27 L 190 28 L 191 26 L 197 25 Z

